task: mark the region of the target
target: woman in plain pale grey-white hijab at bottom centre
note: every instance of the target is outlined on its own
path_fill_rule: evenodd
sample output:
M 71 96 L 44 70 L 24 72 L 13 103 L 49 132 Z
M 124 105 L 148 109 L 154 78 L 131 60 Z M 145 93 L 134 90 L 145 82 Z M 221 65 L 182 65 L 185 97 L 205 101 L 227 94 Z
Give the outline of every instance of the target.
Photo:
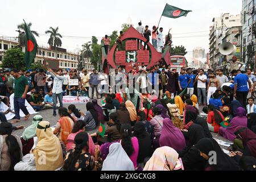
M 101 171 L 134 171 L 133 162 L 120 143 L 112 143 L 109 154 L 102 164 Z

